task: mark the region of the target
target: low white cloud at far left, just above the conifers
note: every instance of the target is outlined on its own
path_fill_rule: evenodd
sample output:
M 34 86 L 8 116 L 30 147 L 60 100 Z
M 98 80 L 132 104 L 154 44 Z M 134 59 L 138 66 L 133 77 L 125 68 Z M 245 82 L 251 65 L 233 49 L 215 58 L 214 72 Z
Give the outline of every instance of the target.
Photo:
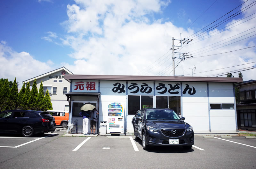
M 9 81 L 13 81 L 16 77 L 20 84 L 24 80 L 52 70 L 49 65 L 52 63 L 50 60 L 47 63 L 40 62 L 27 52 L 14 51 L 2 41 L 0 43 L 0 63 L 0 77 L 8 78 Z M 19 88 L 21 87 L 22 85 L 19 85 Z

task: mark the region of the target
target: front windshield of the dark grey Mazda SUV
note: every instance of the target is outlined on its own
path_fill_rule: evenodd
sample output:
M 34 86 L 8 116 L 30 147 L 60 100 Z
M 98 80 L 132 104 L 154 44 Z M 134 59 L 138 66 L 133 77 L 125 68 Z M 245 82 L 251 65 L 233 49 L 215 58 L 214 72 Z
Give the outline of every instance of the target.
M 173 110 L 148 109 L 146 120 L 180 120 L 180 117 Z

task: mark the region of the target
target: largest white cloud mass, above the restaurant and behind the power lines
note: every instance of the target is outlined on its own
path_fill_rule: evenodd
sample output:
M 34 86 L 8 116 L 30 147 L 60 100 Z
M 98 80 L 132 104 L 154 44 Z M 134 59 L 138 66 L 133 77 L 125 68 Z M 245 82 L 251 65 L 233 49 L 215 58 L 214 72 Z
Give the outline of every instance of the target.
M 95 1 L 76 0 L 76 4 L 67 6 L 69 19 L 62 24 L 67 26 L 69 34 L 66 37 L 61 38 L 64 45 L 68 45 L 74 49 L 75 52 L 71 53 L 70 56 L 75 58 L 76 61 L 72 64 L 63 64 L 75 74 L 168 75 L 172 70 L 171 52 L 168 53 L 169 56 L 165 55 L 153 64 L 157 66 L 150 66 L 146 69 L 148 71 L 141 71 L 155 62 L 164 53 L 168 52 L 172 47 L 172 37 L 178 39 L 180 38 L 180 32 L 184 31 L 183 28 L 173 25 L 172 22 L 163 22 L 161 19 L 155 20 L 154 18 L 151 18 L 152 15 L 147 15 L 148 17 L 146 17 L 146 14 L 162 12 L 162 9 L 168 5 L 168 3 L 170 3 L 170 1 L 163 5 L 162 1 L 154 0 L 115 1 L 115 3 L 114 1 L 102 1 L 99 3 Z M 253 10 L 248 10 L 247 12 L 246 16 L 252 14 Z M 184 12 L 182 13 L 182 16 L 183 15 Z M 236 22 L 236 20 L 230 21 L 229 24 L 234 22 Z M 225 33 L 220 33 L 208 39 L 205 38 L 212 36 L 212 34 L 208 35 L 208 33 L 206 33 L 204 34 L 206 35 L 204 37 L 205 40 L 193 44 L 196 42 L 196 40 L 194 40 L 193 43 L 190 43 L 191 45 L 183 48 L 180 52 L 190 52 L 189 54 L 191 54 L 191 51 L 216 43 L 215 45 L 195 52 L 212 48 L 220 43 L 227 42 L 228 40 L 246 34 L 240 34 L 236 37 L 217 43 L 220 40 L 241 33 L 243 30 L 245 31 L 252 28 L 255 25 L 254 23 L 255 19 L 252 19 L 251 21 L 246 22 L 246 26 L 243 24 L 235 26 L 234 28 L 225 31 Z M 227 25 L 229 24 L 227 23 Z M 194 32 L 194 30 L 188 29 L 182 33 L 182 37 L 188 37 Z M 72 33 L 75 33 L 75 35 Z M 203 52 L 206 53 L 202 55 L 211 55 L 246 48 L 254 43 L 252 38 L 242 40 L 238 43 L 211 52 L 207 52 L 211 50 L 208 49 L 199 52 L 194 56 L 199 56 L 199 54 Z M 242 38 L 237 40 L 240 39 Z M 237 40 L 233 40 L 229 43 Z M 175 42 L 175 45 L 177 42 L 178 41 Z M 218 47 L 229 43 L 225 43 Z M 255 49 L 250 48 L 235 53 L 227 53 L 225 55 L 187 59 L 178 65 L 175 69 L 175 74 L 191 74 L 192 71 L 189 68 L 194 67 L 194 65 L 196 66 L 196 72 L 202 72 L 253 62 L 256 61 L 255 57 L 253 57 L 254 55 Z M 178 54 L 176 57 L 177 56 Z M 179 60 L 176 59 L 175 61 L 178 62 Z M 169 69 L 164 71 L 164 68 L 168 66 Z M 242 69 L 249 66 L 252 66 L 252 64 L 234 67 L 234 69 L 223 69 L 195 75 L 211 75 L 222 73 L 226 70 Z M 254 72 L 254 69 L 242 72 L 244 79 L 248 80 L 255 78 Z M 193 71 L 193 73 L 195 72 Z M 237 77 L 237 74 L 238 73 L 234 73 L 234 76 Z M 172 73 L 170 75 L 172 75 Z

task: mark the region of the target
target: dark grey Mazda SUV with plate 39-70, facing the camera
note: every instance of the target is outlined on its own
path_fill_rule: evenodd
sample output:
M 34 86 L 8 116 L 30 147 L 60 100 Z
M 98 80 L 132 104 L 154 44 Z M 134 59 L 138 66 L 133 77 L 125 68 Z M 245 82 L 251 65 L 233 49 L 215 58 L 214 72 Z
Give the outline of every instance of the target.
M 132 118 L 135 140 L 148 146 L 182 146 L 191 149 L 194 144 L 193 127 L 169 108 L 144 108 Z

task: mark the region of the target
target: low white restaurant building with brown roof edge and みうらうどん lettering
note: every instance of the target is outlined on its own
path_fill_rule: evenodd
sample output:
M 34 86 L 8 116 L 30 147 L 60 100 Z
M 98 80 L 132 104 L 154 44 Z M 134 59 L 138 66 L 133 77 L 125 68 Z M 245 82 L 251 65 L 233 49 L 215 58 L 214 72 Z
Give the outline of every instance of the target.
M 172 108 L 195 133 L 237 131 L 234 83 L 242 78 L 69 74 L 64 79 L 70 81 L 69 121 L 77 125 L 82 125 L 80 107 L 90 103 L 99 111 L 98 121 L 107 121 L 108 134 L 118 133 L 111 131 L 119 121 L 124 121 L 120 133 L 133 133 L 132 118 L 146 107 Z

